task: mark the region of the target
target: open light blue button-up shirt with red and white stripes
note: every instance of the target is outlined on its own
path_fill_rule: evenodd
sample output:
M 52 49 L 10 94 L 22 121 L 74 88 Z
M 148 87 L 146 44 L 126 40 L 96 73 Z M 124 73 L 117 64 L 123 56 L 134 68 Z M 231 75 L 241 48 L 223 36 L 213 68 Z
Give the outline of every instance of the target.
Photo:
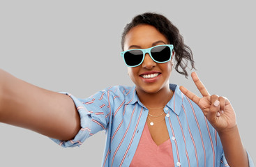
M 174 95 L 164 111 L 175 166 L 228 166 L 218 133 L 199 106 L 183 95 L 179 86 L 170 84 L 170 89 Z M 73 140 L 52 140 L 73 147 L 105 130 L 102 166 L 130 166 L 149 113 L 137 97 L 135 86 L 112 86 L 86 99 L 66 94 L 75 102 L 82 128 Z

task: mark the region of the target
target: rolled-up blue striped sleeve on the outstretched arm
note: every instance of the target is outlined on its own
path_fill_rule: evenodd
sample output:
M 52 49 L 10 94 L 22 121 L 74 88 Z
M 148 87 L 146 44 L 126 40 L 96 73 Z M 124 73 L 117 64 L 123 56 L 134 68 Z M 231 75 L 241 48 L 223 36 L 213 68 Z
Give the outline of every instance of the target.
M 77 112 L 80 115 L 81 129 L 70 141 L 60 141 L 51 138 L 52 141 L 61 145 L 63 148 L 81 145 L 86 138 L 101 130 L 106 130 L 110 120 L 110 100 L 107 92 L 102 90 L 86 99 L 78 99 L 70 93 L 63 93 L 72 98 Z

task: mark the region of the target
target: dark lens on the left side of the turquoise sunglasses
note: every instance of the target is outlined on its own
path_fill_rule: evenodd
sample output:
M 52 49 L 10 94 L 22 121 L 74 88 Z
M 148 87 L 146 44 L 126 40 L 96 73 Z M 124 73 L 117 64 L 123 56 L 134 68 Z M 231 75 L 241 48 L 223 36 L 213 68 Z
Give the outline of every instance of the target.
M 142 62 L 143 53 L 141 50 L 130 50 L 124 54 L 124 60 L 127 65 L 134 66 Z

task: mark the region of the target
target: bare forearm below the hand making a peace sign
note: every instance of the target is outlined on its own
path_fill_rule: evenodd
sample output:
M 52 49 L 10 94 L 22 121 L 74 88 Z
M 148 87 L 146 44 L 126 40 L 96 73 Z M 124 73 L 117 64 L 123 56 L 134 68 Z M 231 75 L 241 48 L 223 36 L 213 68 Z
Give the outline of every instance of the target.
M 248 166 L 247 153 L 243 148 L 238 127 L 235 126 L 218 134 L 229 166 Z

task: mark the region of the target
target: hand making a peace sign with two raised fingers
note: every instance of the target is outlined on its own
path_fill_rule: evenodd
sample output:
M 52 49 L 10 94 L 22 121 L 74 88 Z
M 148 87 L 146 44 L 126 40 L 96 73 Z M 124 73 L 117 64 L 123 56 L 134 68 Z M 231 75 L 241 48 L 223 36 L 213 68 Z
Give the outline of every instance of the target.
M 195 72 L 192 72 L 191 77 L 197 86 L 197 89 L 202 94 L 199 98 L 194 93 L 190 92 L 183 86 L 180 87 L 181 92 L 190 100 L 195 102 L 202 109 L 204 116 L 211 125 L 218 131 L 230 129 L 236 126 L 236 114 L 234 109 L 226 97 L 218 97 L 218 95 L 209 95 L 208 91 L 197 77 Z

